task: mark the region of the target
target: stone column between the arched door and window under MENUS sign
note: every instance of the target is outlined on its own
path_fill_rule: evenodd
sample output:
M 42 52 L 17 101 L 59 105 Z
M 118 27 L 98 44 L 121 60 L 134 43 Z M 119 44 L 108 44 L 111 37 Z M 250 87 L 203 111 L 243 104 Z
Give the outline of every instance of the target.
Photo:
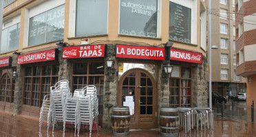
M 164 72 L 164 66 L 167 64 L 170 64 L 170 61 L 164 60 L 158 67 L 158 112 L 162 107 L 169 107 L 169 74 Z

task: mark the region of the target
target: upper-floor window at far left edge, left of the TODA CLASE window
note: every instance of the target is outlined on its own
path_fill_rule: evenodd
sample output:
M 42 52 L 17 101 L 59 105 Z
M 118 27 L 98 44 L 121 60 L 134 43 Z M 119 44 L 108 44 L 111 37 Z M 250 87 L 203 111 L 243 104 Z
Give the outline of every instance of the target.
M 19 49 L 20 27 L 21 24 L 17 23 L 16 25 L 12 25 L 11 27 L 7 27 L 6 29 L 2 30 L 0 53 Z

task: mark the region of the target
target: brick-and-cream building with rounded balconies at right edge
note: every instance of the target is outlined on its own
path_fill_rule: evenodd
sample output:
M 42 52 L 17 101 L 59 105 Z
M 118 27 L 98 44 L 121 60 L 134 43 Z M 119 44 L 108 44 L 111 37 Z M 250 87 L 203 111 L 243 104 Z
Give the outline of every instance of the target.
M 236 58 L 237 75 L 246 77 L 246 96 L 247 105 L 255 101 L 255 6 L 256 1 L 236 1 L 235 13 L 236 20 Z

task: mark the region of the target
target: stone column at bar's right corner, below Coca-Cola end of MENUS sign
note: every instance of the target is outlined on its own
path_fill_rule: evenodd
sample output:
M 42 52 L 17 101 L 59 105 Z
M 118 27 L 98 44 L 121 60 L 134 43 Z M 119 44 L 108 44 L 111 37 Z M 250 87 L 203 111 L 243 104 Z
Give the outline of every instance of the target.
M 207 60 L 202 56 L 202 64 L 197 64 L 192 68 L 192 90 L 193 90 L 193 107 L 207 107 L 209 90 L 208 90 L 208 67 Z

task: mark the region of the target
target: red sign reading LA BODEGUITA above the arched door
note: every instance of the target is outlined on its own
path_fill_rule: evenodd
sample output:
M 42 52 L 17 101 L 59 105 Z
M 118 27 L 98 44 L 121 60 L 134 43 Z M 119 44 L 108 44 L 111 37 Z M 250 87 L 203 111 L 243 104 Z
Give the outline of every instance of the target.
M 164 60 L 164 48 L 116 45 L 116 57 Z

